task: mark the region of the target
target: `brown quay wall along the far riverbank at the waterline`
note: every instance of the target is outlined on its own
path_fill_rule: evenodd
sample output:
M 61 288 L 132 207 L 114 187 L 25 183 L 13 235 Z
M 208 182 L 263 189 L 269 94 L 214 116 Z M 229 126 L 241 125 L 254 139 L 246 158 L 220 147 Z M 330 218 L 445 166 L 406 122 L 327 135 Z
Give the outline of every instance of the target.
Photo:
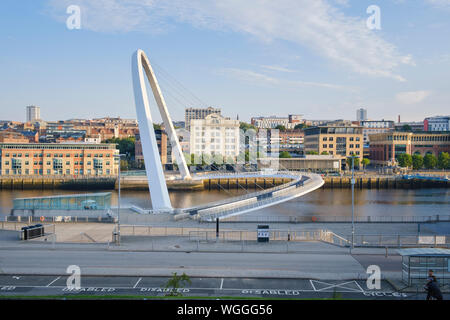
M 350 188 L 351 177 L 325 176 L 322 188 Z M 167 180 L 169 190 L 261 190 L 289 182 L 283 178 L 221 178 L 203 180 Z M 359 189 L 421 189 L 448 188 L 449 181 L 405 179 L 402 175 L 374 175 L 358 173 L 355 187 Z M 112 178 L 75 178 L 75 177 L 0 177 L 0 190 L 117 190 L 118 179 Z M 122 190 L 148 190 L 146 176 L 123 176 Z

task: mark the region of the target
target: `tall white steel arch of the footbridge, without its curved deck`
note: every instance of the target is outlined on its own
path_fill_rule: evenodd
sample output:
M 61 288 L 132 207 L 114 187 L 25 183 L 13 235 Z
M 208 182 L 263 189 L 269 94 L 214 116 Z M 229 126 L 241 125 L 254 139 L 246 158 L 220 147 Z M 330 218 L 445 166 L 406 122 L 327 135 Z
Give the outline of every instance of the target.
M 158 152 L 158 144 L 153 129 L 153 120 L 145 86 L 144 71 L 145 76 L 150 82 L 150 87 L 167 131 L 172 151 L 175 154 L 181 177 L 183 179 L 190 179 L 191 176 L 181 151 L 181 146 L 172 124 L 172 119 L 167 110 L 166 102 L 164 101 L 155 73 L 153 72 L 144 51 L 139 49 L 133 54 L 131 69 L 136 114 L 142 143 L 142 154 L 144 156 L 153 211 L 172 211 L 172 204 L 170 203 L 169 192 L 167 190 L 161 158 Z

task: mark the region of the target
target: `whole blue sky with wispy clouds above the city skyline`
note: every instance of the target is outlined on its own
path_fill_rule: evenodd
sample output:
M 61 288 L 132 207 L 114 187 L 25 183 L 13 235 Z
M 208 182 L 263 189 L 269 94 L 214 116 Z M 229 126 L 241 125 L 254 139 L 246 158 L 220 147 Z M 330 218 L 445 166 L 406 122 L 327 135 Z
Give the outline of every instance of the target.
M 366 26 L 374 4 L 381 30 Z M 421 121 L 450 113 L 449 39 L 450 0 L 3 0 L 0 119 L 23 121 L 30 104 L 46 120 L 134 118 L 141 48 L 176 120 L 212 105 L 247 121 L 354 119 L 360 106 Z

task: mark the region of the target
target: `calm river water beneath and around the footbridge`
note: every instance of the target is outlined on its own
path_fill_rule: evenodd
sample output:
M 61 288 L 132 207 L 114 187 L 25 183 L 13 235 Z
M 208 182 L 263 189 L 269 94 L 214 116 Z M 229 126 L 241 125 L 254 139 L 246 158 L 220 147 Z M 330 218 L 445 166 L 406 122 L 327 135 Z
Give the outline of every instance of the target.
M 102 190 L 98 190 L 99 192 Z M 92 191 L 90 191 L 92 192 Z M 12 200 L 22 197 L 39 197 L 83 193 L 63 190 L 1 190 L 0 214 L 9 214 Z M 185 208 L 202 203 L 236 196 L 245 191 L 170 192 L 174 207 Z M 137 205 L 150 208 L 146 191 L 122 191 L 122 206 Z M 112 206 L 117 205 L 117 192 L 112 194 Z M 255 214 L 255 213 L 252 213 Z M 303 197 L 258 211 L 262 216 L 351 216 L 350 189 L 319 189 Z M 356 216 L 429 216 L 450 215 L 449 189 L 355 189 Z

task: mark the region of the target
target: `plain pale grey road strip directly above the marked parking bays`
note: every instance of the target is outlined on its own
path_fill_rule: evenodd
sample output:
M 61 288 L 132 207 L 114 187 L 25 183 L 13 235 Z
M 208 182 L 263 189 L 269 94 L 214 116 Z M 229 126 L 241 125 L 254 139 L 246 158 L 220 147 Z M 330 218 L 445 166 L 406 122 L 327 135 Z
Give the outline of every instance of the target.
M 65 274 L 78 265 L 89 275 L 249 276 L 320 279 L 358 279 L 361 264 L 348 254 L 206 253 L 108 250 L 1 249 L 0 273 Z

